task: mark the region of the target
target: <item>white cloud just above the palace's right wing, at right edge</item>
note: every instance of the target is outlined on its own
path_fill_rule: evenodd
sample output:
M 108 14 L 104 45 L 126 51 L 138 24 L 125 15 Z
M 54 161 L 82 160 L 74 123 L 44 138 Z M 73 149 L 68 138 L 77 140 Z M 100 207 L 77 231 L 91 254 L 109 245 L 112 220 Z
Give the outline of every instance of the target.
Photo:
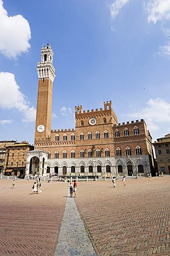
M 129 114 L 132 118 L 143 118 L 147 123 L 150 131 L 159 129 L 159 125 L 163 123 L 170 125 L 170 103 L 164 99 L 150 99 L 147 102 L 147 107 L 139 112 Z

